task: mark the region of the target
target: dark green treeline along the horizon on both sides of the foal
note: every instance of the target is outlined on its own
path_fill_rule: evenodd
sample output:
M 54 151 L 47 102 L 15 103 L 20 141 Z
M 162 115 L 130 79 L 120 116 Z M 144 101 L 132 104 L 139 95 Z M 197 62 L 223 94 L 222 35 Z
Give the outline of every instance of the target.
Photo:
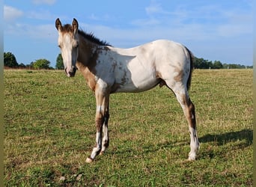
M 31 62 L 30 64 L 18 64 L 11 52 L 4 52 L 4 67 L 10 68 L 26 68 L 26 69 L 46 69 L 46 70 L 63 70 L 64 64 L 61 54 L 58 54 L 56 58 L 56 65 L 54 67 L 50 67 L 50 61 L 46 59 L 38 59 L 36 61 Z M 252 68 L 252 66 L 245 66 L 240 64 L 222 64 L 221 61 L 208 61 L 204 58 L 195 58 L 194 62 L 195 69 L 245 69 Z

